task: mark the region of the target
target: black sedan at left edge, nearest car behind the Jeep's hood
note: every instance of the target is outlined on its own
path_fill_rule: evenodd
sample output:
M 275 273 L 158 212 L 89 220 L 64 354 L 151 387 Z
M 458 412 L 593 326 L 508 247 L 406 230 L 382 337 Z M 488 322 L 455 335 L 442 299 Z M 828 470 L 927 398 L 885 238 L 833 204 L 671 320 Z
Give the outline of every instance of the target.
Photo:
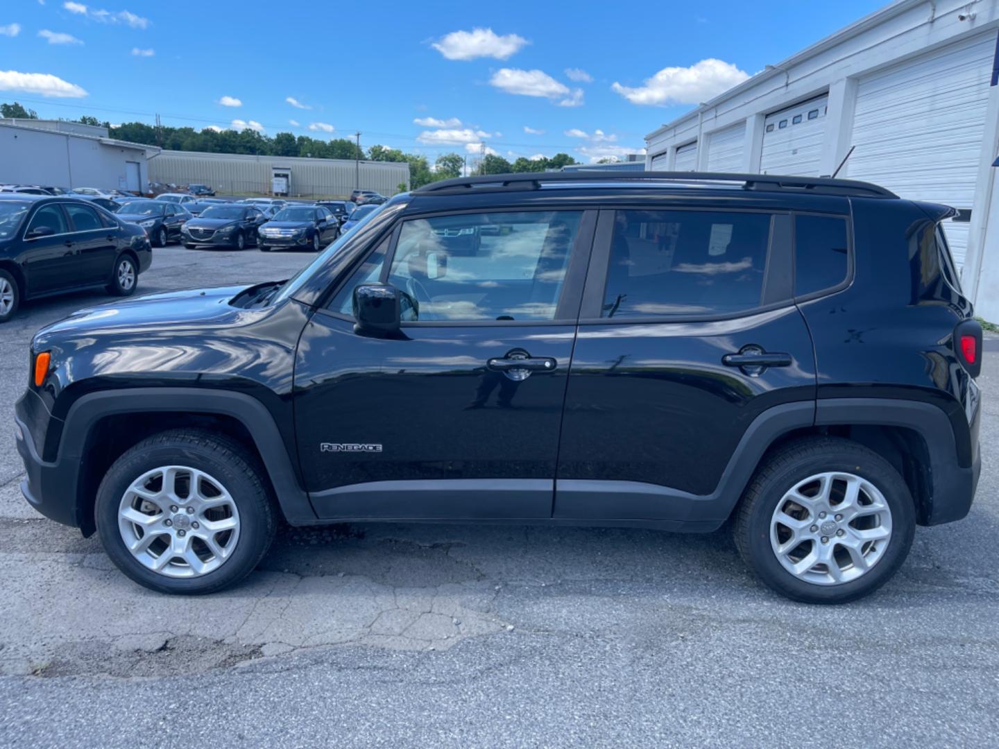
M 23 300 L 91 287 L 127 297 L 152 262 L 145 232 L 87 201 L 0 194 L 0 323 Z

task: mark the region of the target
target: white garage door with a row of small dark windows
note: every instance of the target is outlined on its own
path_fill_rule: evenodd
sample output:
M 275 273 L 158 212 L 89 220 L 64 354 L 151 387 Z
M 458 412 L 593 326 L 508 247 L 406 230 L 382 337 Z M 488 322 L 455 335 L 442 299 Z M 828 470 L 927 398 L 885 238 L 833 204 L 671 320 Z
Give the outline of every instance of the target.
M 827 102 L 828 97 L 820 96 L 766 116 L 761 174 L 818 177 Z

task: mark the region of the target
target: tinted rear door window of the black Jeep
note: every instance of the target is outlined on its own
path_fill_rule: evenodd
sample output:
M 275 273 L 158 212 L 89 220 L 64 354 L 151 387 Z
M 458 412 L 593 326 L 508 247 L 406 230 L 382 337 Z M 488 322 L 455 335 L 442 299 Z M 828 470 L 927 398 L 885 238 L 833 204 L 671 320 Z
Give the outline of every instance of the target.
M 600 317 L 759 307 L 769 240 L 769 214 L 617 211 Z

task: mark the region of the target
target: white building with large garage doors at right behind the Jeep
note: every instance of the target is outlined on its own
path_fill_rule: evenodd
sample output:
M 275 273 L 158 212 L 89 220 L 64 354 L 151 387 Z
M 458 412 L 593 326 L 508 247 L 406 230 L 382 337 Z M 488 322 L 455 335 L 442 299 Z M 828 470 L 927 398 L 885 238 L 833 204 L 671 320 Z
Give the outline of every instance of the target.
M 999 0 L 898 0 L 650 133 L 645 167 L 817 177 L 846 159 L 838 177 L 961 210 L 962 284 L 999 321 L 997 79 Z

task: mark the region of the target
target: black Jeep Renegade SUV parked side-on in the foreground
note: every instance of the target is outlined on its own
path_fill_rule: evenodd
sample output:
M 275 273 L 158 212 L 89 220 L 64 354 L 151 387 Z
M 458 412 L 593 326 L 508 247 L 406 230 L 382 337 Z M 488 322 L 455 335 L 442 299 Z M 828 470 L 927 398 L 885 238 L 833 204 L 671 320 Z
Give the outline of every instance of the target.
M 981 329 L 954 213 L 761 175 L 439 182 L 290 281 L 39 332 L 23 490 L 165 592 L 235 583 L 280 512 L 733 518 L 771 587 L 854 599 L 975 492 Z

